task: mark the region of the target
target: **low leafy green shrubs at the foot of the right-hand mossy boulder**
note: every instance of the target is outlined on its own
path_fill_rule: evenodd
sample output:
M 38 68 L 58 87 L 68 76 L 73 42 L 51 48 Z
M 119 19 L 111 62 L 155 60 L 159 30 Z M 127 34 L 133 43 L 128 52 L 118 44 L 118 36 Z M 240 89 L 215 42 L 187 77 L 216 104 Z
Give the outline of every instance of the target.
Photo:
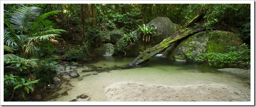
M 186 56 L 189 60 L 207 63 L 214 68 L 248 68 L 251 64 L 251 49 L 247 44 L 241 44 L 241 47 L 244 48 L 241 51 L 235 51 L 236 47 L 230 47 L 228 53 L 203 53 L 198 58 L 192 58 L 190 54 L 186 54 Z

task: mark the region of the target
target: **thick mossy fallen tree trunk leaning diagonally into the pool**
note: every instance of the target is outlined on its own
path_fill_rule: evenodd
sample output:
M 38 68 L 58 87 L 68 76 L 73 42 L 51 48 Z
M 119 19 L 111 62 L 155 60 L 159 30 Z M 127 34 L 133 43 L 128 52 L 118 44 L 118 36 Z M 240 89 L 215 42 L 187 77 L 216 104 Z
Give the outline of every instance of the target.
M 205 31 L 205 28 L 202 27 L 202 22 L 204 22 L 204 15 L 206 10 L 204 10 L 199 16 L 194 18 L 190 23 L 186 24 L 182 29 L 178 30 L 171 37 L 164 39 L 161 43 L 155 45 L 152 48 L 146 49 L 145 52 L 140 54 L 135 58 L 129 65 L 124 65 L 122 68 L 128 68 L 129 66 L 138 65 L 141 63 L 146 63 L 150 58 L 154 57 L 158 53 L 161 53 L 163 50 L 167 49 L 173 43 L 185 39 L 193 34 Z M 194 27 L 195 23 L 200 24 L 198 27 Z

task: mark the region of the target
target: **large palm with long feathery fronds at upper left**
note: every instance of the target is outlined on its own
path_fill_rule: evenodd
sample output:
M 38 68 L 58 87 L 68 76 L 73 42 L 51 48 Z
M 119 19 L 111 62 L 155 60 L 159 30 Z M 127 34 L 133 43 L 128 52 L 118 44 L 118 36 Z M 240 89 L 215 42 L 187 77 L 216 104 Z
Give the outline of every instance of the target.
M 20 50 L 24 58 L 30 58 L 38 50 L 40 41 L 60 36 L 62 29 L 54 29 L 55 24 L 46 19 L 59 11 L 50 11 L 43 15 L 38 7 L 22 7 L 14 13 L 7 14 L 4 19 L 4 43 L 11 48 Z

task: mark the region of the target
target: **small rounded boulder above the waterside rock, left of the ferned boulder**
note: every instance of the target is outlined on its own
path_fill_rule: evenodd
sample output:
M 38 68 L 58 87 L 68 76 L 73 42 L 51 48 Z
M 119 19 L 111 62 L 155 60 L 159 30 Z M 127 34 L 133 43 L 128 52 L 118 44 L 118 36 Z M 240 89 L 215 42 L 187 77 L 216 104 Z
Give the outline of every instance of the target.
M 113 30 L 110 32 L 110 43 L 116 44 L 116 42 L 123 37 L 124 33 L 121 30 Z

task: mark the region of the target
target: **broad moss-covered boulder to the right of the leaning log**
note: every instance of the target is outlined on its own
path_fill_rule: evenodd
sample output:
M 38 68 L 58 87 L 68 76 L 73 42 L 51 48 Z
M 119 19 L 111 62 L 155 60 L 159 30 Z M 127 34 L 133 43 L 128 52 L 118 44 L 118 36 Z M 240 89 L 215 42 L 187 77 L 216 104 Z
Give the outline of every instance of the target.
M 198 58 L 202 53 L 228 53 L 230 47 L 240 50 L 242 40 L 237 34 L 226 31 L 200 32 L 179 41 L 162 54 L 164 58 L 186 61 L 186 54 Z

